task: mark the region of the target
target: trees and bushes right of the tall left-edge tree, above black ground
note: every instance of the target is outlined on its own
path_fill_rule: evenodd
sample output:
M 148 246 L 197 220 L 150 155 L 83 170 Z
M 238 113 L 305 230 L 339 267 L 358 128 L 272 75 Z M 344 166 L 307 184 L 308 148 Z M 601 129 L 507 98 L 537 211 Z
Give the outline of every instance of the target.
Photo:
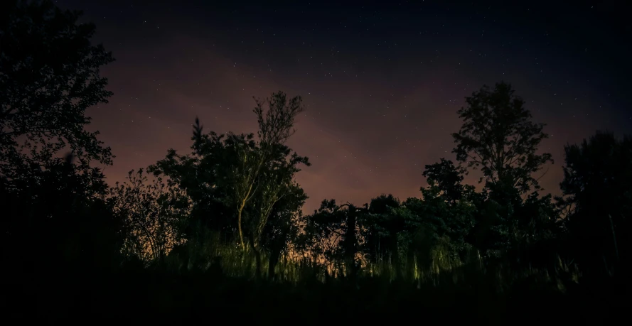
M 283 275 L 292 263 L 319 266 L 322 277 L 406 279 L 503 263 L 574 282 L 580 272 L 600 278 L 625 268 L 630 139 L 597 133 L 567 146 L 563 195 L 552 198 L 540 195 L 536 178 L 552 161 L 537 153 L 544 125 L 531 121 L 510 85 L 483 87 L 467 102 L 453 135 L 458 164 L 426 165 L 420 197 L 323 200 L 307 216 L 294 175 L 309 161 L 284 145 L 300 97 L 279 92 L 257 102 L 257 136 L 204 134 L 196 120 L 191 154 L 169 150 L 109 190 L 106 201 L 127 230 L 122 252 L 143 266 L 178 270 L 225 260 L 234 275 L 270 279 L 292 279 Z M 481 191 L 463 183 L 476 168 Z

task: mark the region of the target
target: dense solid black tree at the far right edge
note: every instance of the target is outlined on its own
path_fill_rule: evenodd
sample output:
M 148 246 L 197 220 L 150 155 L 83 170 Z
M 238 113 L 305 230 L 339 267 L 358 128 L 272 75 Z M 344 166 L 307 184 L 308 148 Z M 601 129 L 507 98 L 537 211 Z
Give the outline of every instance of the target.
M 632 138 L 598 131 L 579 145 L 564 146 L 564 153 L 557 205 L 565 213 L 572 254 L 599 271 L 629 263 Z

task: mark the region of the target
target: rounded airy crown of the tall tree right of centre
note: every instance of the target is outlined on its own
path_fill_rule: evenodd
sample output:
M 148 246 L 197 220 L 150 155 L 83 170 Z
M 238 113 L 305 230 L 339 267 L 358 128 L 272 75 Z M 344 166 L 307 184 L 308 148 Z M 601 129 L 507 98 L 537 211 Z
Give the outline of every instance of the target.
M 544 124 L 531 121 L 525 101 L 514 95 L 511 85 L 483 86 L 459 110 L 464 123 L 452 134 L 457 161 L 468 168 L 480 168 L 487 185 L 515 188 L 520 194 L 540 186 L 532 173 L 553 162 L 550 153 L 537 154 L 537 146 L 548 135 Z M 483 180 L 481 178 L 481 181 Z

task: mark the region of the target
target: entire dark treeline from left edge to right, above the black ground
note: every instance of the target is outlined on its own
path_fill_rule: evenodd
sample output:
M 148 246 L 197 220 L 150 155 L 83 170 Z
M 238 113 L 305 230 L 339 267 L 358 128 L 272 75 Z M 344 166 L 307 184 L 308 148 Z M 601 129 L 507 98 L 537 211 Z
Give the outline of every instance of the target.
M 545 125 L 507 83 L 466 97 L 452 134 L 456 161 L 419 171 L 428 184 L 419 197 L 326 199 L 305 216 L 295 175 L 310 163 L 286 145 L 301 97 L 255 99 L 252 134 L 205 132 L 196 119 L 191 153 L 170 149 L 107 185 L 96 166 L 112 164 L 111 150 L 84 128 L 85 110 L 112 96 L 99 70 L 114 59 L 90 43 L 95 26 L 50 1 L 20 2 L 2 15 L 7 280 L 168 271 L 292 282 L 382 277 L 419 287 L 488 273 L 501 286 L 535 278 L 564 292 L 630 270 L 632 138 L 597 132 L 565 146 L 562 195 L 542 195 L 537 179 L 552 163 L 540 151 Z M 482 190 L 463 183 L 474 170 Z

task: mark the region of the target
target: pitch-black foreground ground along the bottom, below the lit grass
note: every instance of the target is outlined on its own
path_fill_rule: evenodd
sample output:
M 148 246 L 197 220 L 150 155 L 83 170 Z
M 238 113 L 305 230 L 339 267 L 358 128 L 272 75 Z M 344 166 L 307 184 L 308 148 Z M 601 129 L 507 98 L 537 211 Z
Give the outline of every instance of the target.
M 498 294 L 491 282 L 456 286 L 307 280 L 298 284 L 225 278 L 212 273 L 149 271 L 87 275 L 23 274 L 6 280 L 5 319 L 25 323 L 141 322 L 235 324 L 466 322 L 480 325 L 612 325 L 632 321 L 628 284 L 584 282 L 566 293 L 535 281 Z M 6 324 L 8 325 L 8 324 Z

